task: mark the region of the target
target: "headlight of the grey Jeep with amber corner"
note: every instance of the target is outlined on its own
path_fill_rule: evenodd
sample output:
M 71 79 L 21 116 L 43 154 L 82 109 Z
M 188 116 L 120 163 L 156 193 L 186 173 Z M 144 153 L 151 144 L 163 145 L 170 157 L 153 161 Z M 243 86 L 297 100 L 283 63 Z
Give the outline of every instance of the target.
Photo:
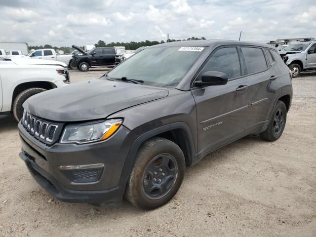
M 122 124 L 122 119 L 103 122 L 68 125 L 65 127 L 61 143 L 89 143 L 103 141 L 113 135 Z

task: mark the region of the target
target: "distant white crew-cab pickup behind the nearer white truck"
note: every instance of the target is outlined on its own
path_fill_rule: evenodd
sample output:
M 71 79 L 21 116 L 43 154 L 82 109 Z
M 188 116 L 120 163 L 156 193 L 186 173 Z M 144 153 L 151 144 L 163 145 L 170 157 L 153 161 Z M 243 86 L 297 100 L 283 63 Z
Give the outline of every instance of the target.
M 44 59 L 44 60 L 53 60 L 66 63 L 69 67 L 71 61 L 73 60 L 73 55 L 71 54 L 58 54 L 52 48 L 44 48 L 44 49 L 37 49 L 30 52 L 28 55 L 23 56 L 14 56 L 13 58 L 32 58 L 32 59 Z

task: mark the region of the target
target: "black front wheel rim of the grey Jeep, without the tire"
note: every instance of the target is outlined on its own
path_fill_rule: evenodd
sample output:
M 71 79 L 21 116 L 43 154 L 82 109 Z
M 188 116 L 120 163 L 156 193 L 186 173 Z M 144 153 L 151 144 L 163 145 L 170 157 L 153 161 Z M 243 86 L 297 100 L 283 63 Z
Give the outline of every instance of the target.
M 143 192 L 150 199 L 166 196 L 178 177 L 178 164 L 170 154 L 161 154 L 147 165 L 143 175 Z

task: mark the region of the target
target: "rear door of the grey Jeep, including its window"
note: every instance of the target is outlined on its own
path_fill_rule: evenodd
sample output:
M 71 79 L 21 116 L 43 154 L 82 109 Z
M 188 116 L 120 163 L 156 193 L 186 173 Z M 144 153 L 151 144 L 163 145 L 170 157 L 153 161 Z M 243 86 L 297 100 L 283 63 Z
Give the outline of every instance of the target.
M 245 131 L 262 128 L 269 119 L 276 90 L 280 88 L 270 50 L 255 46 L 241 46 L 248 78 L 249 109 L 246 111 Z

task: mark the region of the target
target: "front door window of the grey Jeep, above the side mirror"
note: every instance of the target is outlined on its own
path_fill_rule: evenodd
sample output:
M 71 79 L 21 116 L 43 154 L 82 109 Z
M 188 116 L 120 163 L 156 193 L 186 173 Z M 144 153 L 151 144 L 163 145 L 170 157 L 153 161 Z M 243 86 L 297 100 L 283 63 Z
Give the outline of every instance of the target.
M 204 66 L 200 76 L 207 71 L 226 73 L 228 79 L 239 77 L 241 73 L 237 48 L 228 47 L 217 50 Z

